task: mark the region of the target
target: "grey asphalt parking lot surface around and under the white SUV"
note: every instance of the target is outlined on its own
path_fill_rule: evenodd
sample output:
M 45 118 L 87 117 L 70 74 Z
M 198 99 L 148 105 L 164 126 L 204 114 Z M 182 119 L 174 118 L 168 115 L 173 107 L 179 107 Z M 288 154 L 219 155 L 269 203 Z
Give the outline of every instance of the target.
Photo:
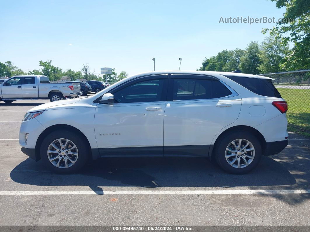
M 310 140 L 298 134 L 246 175 L 203 158 L 105 158 L 57 175 L 18 143 L 25 112 L 47 102 L 0 102 L 0 225 L 310 225 Z

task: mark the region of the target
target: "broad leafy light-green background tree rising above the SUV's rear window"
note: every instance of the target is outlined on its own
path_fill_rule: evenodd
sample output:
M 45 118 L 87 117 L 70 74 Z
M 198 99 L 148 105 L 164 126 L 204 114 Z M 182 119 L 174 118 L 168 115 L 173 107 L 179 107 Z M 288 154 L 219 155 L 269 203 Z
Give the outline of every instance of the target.
M 281 40 L 275 36 L 266 37 L 261 43 L 261 51 L 259 53 L 260 73 L 273 73 L 285 71 L 281 68 L 284 57 L 288 54 L 289 47 L 281 44 Z

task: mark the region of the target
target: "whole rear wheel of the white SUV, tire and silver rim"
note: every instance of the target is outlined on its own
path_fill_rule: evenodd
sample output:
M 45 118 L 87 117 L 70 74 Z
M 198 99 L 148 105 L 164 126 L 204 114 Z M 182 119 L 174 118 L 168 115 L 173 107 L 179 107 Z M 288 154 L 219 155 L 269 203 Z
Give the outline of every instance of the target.
M 253 134 L 239 130 L 221 136 L 215 153 L 222 169 L 229 173 L 243 174 L 259 164 L 262 148 Z

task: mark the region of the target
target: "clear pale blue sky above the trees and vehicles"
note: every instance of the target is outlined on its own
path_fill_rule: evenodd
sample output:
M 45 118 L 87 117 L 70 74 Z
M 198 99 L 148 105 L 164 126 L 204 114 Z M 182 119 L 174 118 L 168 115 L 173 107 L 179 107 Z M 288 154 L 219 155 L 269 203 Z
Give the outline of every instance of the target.
M 130 75 L 155 69 L 195 70 L 205 57 L 251 41 L 274 23 L 219 23 L 220 17 L 281 18 L 266 0 L 1 1 L 0 61 L 27 71 L 39 60 L 63 70 L 116 68 Z

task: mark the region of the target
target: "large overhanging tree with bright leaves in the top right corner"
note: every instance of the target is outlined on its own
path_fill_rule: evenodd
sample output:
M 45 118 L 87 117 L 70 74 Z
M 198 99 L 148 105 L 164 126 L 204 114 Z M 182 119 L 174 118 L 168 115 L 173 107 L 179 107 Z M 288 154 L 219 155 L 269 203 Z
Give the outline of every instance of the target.
M 309 0 L 271 0 L 277 8 L 285 7 L 283 19 L 272 29 L 263 29 L 281 39 L 286 46 L 292 42 L 293 48 L 284 58 L 282 67 L 287 70 L 308 69 L 310 66 L 310 1 Z M 293 19 L 291 21 L 287 19 Z M 287 34 L 289 33 L 289 34 Z

